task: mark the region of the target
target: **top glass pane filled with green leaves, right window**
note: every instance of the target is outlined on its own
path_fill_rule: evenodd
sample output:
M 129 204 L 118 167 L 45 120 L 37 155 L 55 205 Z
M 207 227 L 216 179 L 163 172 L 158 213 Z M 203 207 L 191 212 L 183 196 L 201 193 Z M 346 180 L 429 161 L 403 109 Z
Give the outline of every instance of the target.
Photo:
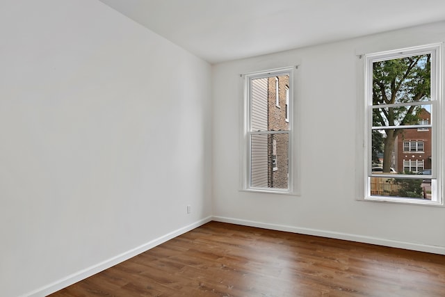
M 430 99 L 431 55 L 373 62 L 373 105 Z

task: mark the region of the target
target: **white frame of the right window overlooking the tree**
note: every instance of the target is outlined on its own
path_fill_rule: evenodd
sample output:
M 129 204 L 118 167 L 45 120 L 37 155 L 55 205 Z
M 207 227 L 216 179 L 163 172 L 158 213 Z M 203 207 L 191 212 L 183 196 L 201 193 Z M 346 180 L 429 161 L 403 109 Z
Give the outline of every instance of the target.
M 444 129 L 442 123 L 444 122 L 445 109 L 443 103 L 443 85 L 442 85 L 442 71 L 443 60 L 442 43 L 434 45 L 426 45 L 421 47 L 410 47 L 406 49 L 396 49 L 391 51 L 384 51 L 375 54 L 364 55 L 364 97 L 365 97 L 365 113 L 364 113 L 364 198 L 359 200 L 376 201 L 376 202 L 395 202 L 405 204 L 423 204 L 433 206 L 444 206 L 443 199 L 443 182 L 444 174 L 443 154 L 444 154 Z M 371 195 L 371 177 L 389 177 L 389 178 L 410 178 L 410 175 L 394 175 L 383 174 L 373 175 L 371 172 L 371 130 L 372 130 L 372 92 L 373 92 L 373 62 L 385 61 L 396 58 L 403 58 L 406 56 L 416 56 L 421 54 L 431 54 L 431 95 L 430 102 L 432 106 L 432 114 L 430 123 L 428 125 L 403 126 L 403 128 L 431 128 L 432 129 L 432 175 L 423 175 L 423 179 L 431 179 L 431 195 L 432 200 L 420 200 L 412 198 L 398 198 L 391 196 L 376 196 Z M 359 58 L 363 58 L 362 55 Z M 405 105 L 425 105 L 425 102 L 412 102 Z M 419 179 L 419 176 L 414 175 L 412 178 Z

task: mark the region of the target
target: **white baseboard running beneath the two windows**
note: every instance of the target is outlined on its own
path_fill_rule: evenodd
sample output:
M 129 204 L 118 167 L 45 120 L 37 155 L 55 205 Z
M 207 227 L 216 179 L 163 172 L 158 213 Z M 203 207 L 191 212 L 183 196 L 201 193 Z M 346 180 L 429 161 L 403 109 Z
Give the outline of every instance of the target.
M 306 235 L 314 235 L 314 236 L 322 236 L 329 237 L 332 239 L 343 239 L 348 241 L 357 241 L 362 243 L 371 243 L 378 246 L 388 246 L 391 248 L 403 248 L 405 250 L 417 250 L 419 252 L 431 252 L 433 254 L 445 255 L 445 247 L 443 246 L 429 246 L 426 244 L 419 243 L 410 243 L 404 241 L 394 241 L 390 239 L 380 239 L 377 237 L 371 236 L 362 236 L 357 234 L 348 234 L 341 232 L 330 232 L 324 230 L 316 230 L 310 228 L 302 228 L 302 227 L 293 227 L 286 225 L 277 225 L 270 223 L 261 223 L 253 220 L 241 220 L 238 218 L 226 218 L 223 216 L 213 216 L 212 220 L 216 220 L 217 222 L 223 223 L 232 223 L 236 225 L 244 225 L 250 227 L 259 227 L 270 230 L 278 230 L 278 231 L 286 231 L 298 234 L 306 234 Z

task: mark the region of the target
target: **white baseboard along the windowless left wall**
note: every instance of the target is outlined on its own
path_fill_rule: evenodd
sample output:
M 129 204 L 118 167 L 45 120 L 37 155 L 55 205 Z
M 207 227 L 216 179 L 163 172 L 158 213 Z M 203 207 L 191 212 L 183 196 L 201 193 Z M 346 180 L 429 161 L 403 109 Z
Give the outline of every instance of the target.
M 96 273 L 99 273 L 100 271 L 104 271 L 107 268 L 110 268 L 112 266 L 115 266 L 116 264 L 124 262 L 125 260 L 130 259 L 131 257 L 139 255 L 141 252 L 145 252 L 145 251 L 149 250 L 150 248 L 159 246 L 161 243 L 164 243 L 165 241 L 169 241 L 170 239 L 173 239 L 176 236 L 179 236 L 179 235 L 184 234 L 188 231 L 191 231 L 191 230 L 195 229 L 196 227 L 200 227 L 201 225 L 204 225 L 205 223 L 209 223 L 211 221 L 211 219 L 212 219 L 212 217 L 209 216 L 207 218 L 198 220 L 197 222 L 187 225 L 185 227 L 181 227 L 178 230 L 175 230 L 175 231 L 165 234 L 157 239 L 149 241 L 149 242 L 143 244 L 142 246 L 138 246 L 136 248 L 133 248 L 132 250 L 128 250 L 127 252 L 122 252 L 122 254 L 117 255 L 111 259 L 107 259 L 104 262 L 101 262 L 99 264 L 85 268 L 81 271 L 73 273 L 72 275 L 68 275 L 66 278 L 62 278 L 56 282 L 48 284 L 47 286 L 41 287 L 40 289 L 31 291 L 28 294 L 24 294 L 22 297 L 25 297 L 25 296 L 26 297 L 40 297 L 40 296 L 47 296 L 49 294 L 52 294 L 60 289 L 70 286 L 71 284 L 79 282 L 80 280 L 89 278 L 91 275 L 95 275 Z

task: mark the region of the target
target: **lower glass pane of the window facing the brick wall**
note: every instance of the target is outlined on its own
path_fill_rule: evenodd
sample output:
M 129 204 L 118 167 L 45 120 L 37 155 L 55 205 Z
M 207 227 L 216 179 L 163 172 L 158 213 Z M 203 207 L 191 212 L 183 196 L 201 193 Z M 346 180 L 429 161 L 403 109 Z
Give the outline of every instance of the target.
M 276 143 L 274 154 L 274 143 Z M 289 188 L 289 134 L 251 136 L 250 186 L 253 188 Z

